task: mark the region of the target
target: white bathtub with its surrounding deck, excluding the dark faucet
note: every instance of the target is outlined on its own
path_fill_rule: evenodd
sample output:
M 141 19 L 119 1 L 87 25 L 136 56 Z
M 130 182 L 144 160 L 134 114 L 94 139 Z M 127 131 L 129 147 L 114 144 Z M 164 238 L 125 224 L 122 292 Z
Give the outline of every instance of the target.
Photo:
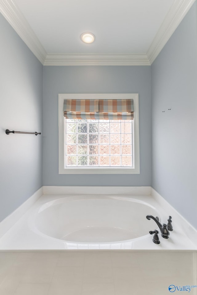
M 44 194 L 3 235 L 0 250 L 197 249 L 188 224 L 165 202 L 152 195 Z M 174 230 L 168 239 L 159 233 L 159 245 L 149 234 L 158 226 L 147 215 L 161 223 L 172 216 Z

